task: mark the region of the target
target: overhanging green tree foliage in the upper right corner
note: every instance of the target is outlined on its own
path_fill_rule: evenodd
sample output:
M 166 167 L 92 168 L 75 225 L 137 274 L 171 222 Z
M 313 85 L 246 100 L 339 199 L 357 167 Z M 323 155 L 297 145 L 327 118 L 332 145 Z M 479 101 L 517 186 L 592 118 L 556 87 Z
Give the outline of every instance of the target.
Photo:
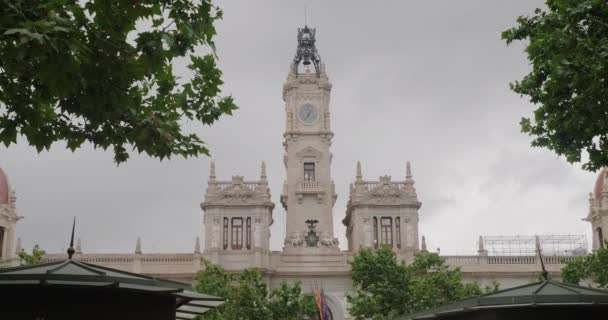
M 532 145 L 595 171 L 608 165 L 608 2 L 547 0 L 502 33 L 527 42 L 532 71 L 511 89 L 537 105 L 521 120 Z M 582 156 L 588 154 L 588 159 Z

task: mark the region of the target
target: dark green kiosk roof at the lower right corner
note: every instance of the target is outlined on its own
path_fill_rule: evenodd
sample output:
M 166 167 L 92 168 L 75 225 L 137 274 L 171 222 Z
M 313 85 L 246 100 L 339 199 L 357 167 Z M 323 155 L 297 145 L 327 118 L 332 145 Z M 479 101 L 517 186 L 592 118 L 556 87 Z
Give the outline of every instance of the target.
M 542 281 L 456 301 L 400 319 L 442 319 L 480 310 L 567 305 L 608 306 L 608 291 L 555 281 Z

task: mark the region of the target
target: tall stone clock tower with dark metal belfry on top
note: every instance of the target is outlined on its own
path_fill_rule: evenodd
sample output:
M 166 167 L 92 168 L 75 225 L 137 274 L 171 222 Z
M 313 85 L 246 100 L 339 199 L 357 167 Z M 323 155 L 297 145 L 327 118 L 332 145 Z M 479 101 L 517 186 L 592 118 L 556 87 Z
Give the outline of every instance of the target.
M 281 203 L 287 211 L 287 249 L 338 245 L 332 215 L 337 198 L 331 177 L 332 86 L 315 41 L 315 29 L 305 26 L 298 30 L 296 55 L 283 86 L 287 178 Z

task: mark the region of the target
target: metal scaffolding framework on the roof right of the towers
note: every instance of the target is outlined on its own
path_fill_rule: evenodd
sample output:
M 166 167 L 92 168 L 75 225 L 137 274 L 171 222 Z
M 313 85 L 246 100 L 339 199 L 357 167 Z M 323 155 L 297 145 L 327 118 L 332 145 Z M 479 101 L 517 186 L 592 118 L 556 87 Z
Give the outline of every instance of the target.
M 491 256 L 534 256 L 537 254 L 537 239 L 545 256 L 580 256 L 587 253 L 585 235 L 483 236 L 480 248 Z

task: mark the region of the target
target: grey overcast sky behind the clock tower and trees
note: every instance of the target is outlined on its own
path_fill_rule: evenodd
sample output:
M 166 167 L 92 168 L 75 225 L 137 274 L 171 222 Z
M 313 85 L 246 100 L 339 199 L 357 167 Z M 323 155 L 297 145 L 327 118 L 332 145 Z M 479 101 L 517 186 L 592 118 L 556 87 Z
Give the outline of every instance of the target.
M 534 108 L 508 87 L 529 66 L 523 47 L 507 47 L 500 32 L 543 2 L 220 1 L 225 92 L 240 109 L 213 127 L 197 127 L 218 179 L 257 179 L 266 161 L 277 204 L 271 249 L 280 250 L 281 89 L 306 6 L 334 85 L 334 227 L 342 248 L 357 160 L 369 180 L 403 179 L 411 161 L 422 202 L 419 232 L 429 249 L 475 253 L 479 235 L 588 234 L 581 219 L 594 174 L 529 146 L 518 123 Z M 133 252 L 138 236 L 144 252 L 193 250 L 203 233 L 199 203 L 209 158 L 133 156 L 116 167 L 111 152 L 64 148 L 37 154 L 23 141 L 0 146 L 0 166 L 25 216 L 18 224 L 25 247 L 65 250 L 77 216 L 85 253 Z

